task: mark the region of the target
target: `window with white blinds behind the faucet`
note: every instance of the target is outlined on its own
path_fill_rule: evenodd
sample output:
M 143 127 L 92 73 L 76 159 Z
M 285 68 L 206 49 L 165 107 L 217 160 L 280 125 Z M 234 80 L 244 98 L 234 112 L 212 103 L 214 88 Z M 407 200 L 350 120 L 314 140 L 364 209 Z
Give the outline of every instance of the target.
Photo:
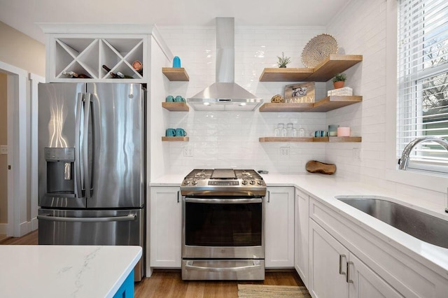
M 400 0 L 397 156 L 419 136 L 448 140 L 448 1 Z M 448 173 L 437 143 L 412 150 L 409 168 Z

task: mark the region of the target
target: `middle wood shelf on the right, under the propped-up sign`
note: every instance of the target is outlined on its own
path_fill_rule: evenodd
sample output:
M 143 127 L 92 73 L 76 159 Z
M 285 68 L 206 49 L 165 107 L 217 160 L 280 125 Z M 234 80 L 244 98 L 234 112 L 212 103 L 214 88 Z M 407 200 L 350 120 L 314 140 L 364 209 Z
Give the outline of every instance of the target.
M 324 97 L 314 104 L 282 104 L 267 103 L 260 106 L 260 112 L 328 112 L 343 106 L 349 106 L 363 101 L 363 97 L 353 96 L 331 96 Z

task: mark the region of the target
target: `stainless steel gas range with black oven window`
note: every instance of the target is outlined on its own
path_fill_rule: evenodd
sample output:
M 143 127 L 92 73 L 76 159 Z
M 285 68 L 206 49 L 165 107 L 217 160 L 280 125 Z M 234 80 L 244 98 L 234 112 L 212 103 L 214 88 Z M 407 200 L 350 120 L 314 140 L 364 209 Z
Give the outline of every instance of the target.
M 262 177 L 254 170 L 195 169 L 181 194 L 182 279 L 265 279 Z

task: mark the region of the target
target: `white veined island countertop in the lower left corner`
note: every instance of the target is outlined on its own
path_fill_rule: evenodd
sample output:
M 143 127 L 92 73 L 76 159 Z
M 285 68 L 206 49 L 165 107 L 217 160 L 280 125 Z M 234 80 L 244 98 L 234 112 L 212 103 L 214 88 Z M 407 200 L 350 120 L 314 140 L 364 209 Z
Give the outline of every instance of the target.
M 0 246 L 0 297 L 113 297 L 140 246 Z

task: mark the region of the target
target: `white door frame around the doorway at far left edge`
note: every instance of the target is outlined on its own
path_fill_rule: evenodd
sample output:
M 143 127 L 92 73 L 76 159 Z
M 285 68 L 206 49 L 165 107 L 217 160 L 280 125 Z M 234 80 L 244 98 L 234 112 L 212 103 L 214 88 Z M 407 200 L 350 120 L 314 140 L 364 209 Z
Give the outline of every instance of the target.
M 8 75 L 8 227 L 7 236 L 22 236 L 20 215 L 27 216 L 27 75 L 25 69 L 0 61 Z M 21 180 L 25 178 L 25 183 Z

